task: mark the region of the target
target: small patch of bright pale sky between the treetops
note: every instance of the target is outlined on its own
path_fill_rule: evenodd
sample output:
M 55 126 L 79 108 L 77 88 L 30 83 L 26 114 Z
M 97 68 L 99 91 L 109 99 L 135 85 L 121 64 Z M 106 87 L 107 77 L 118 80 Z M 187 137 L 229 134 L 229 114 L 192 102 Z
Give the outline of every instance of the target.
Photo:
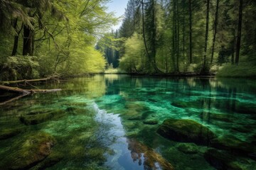
M 125 8 L 127 7 L 128 0 L 111 0 L 107 6 L 109 12 L 114 12 L 115 16 L 123 16 Z M 122 24 L 122 20 L 119 21 L 117 26 L 112 26 L 113 30 L 117 30 Z

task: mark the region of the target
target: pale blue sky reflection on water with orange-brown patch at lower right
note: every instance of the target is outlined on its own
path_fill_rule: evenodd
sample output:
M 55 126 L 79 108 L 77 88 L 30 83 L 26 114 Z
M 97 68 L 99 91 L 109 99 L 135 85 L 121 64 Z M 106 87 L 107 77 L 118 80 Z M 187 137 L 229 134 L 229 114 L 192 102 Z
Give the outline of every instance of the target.
M 114 151 L 114 155 L 107 154 L 106 165 L 111 169 L 173 169 L 173 166 L 167 162 L 160 154 L 154 152 L 153 149 L 143 145 L 135 139 L 125 137 L 125 131 L 122 126 L 119 115 L 106 113 L 100 110 L 97 104 L 93 105 L 96 114 L 96 120 L 102 125 L 107 124 L 109 128 L 100 130 L 103 132 L 107 140 L 112 141 L 109 145 Z

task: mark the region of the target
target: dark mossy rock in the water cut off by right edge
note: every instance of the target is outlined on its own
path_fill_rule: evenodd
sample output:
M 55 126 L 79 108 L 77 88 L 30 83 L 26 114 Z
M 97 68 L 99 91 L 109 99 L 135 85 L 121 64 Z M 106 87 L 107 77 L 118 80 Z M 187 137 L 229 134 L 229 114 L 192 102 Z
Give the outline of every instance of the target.
M 222 137 L 215 138 L 214 140 L 211 141 L 211 146 L 218 149 L 226 149 L 231 152 L 237 152 L 239 154 L 256 154 L 255 145 L 252 145 L 249 142 L 239 140 L 238 138 L 232 135 L 225 135 Z M 254 159 L 256 159 L 256 157 L 254 157 Z

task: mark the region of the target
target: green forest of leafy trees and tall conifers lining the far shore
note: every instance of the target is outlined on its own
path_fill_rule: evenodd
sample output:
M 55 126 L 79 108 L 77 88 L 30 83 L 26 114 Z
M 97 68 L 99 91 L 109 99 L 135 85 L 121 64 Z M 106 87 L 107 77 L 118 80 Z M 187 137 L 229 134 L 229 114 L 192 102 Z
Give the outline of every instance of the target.
M 0 80 L 85 73 L 255 77 L 256 2 L 0 1 Z

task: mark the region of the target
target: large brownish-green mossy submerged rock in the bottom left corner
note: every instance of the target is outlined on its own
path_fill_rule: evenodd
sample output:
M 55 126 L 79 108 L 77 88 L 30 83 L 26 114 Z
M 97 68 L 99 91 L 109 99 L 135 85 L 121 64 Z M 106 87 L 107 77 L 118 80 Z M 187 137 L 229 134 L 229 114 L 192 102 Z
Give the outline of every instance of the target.
M 0 169 L 30 169 L 48 157 L 54 144 L 54 138 L 46 132 L 26 135 L 11 145 L 10 152 L 1 160 Z

